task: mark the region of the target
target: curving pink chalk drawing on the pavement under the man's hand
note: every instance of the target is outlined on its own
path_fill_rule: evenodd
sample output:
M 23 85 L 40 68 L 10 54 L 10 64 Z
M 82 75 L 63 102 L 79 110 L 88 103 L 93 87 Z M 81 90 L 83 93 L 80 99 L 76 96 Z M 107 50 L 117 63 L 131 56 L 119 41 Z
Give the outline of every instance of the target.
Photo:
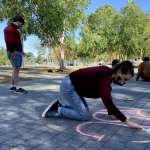
M 150 110 L 148 109 L 140 109 L 140 108 L 129 108 L 129 107 L 119 107 L 120 110 L 128 117 L 128 118 L 133 118 L 136 120 L 142 120 L 142 121 L 150 121 Z M 101 134 L 101 133 L 91 133 L 89 132 L 87 129 L 89 126 L 91 125 L 99 125 L 99 124 L 104 124 L 104 125 L 116 125 L 116 126 L 122 126 L 122 127 L 127 127 L 127 125 L 123 124 L 122 122 L 120 122 L 119 120 L 108 120 L 108 119 L 103 119 L 98 117 L 99 115 L 103 115 L 103 116 L 107 116 L 107 111 L 106 109 L 101 109 L 100 111 L 97 111 L 95 113 L 93 113 L 93 119 L 95 119 L 94 121 L 87 121 L 87 122 L 83 122 L 80 123 L 76 126 L 76 131 L 83 135 L 83 136 L 87 136 L 89 138 L 93 138 L 97 141 L 101 141 L 103 138 L 105 138 L 105 134 Z M 150 125 L 143 125 L 144 130 L 141 130 L 141 132 L 145 132 L 145 134 L 149 134 L 150 132 L 146 132 L 146 128 L 148 129 L 148 131 L 150 130 Z M 134 143 L 150 143 L 150 140 L 135 140 L 135 141 L 131 141 Z

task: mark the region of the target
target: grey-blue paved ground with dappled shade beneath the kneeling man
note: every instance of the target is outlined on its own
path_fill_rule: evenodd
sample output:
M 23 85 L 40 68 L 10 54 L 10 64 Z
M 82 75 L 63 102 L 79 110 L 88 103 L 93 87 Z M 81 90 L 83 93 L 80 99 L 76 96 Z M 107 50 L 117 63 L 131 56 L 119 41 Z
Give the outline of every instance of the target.
M 41 113 L 59 98 L 62 76 L 23 82 L 27 95 L 0 84 L 0 150 L 150 150 L 150 133 L 110 120 L 100 99 L 87 99 L 93 119 L 43 119 Z M 150 126 L 150 83 L 113 85 L 114 103 L 136 122 Z

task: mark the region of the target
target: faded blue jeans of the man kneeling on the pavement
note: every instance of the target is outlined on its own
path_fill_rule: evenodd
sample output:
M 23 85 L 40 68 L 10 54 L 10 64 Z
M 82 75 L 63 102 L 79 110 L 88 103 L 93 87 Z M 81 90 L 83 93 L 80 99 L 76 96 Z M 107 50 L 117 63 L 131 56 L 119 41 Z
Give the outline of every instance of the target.
M 60 107 L 60 113 L 63 117 L 83 121 L 91 118 L 85 99 L 77 94 L 69 75 L 62 80 L 60 94 L 60 102 L 63 105 Z

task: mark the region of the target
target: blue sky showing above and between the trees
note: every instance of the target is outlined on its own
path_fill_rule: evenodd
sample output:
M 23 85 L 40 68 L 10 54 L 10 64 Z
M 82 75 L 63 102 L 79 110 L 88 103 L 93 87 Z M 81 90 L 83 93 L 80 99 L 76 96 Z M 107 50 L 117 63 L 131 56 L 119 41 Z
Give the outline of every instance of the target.
M 135 3 L 145 12 L 150 12 L 150 1 L 149 0 L 134 0 Z M 127 5 L 128 0 L 90 0 L 90 4 L 86 8 L 85 12 L 90 13 L 96 10 L 96 8 L 101 7 L 105 4 L 111 4 L 113 8 L 119 11 L 122 7 Z M 6 21 L 0 22 L 0 47 L 5 48 L 3 30 L 6 26 Z M 24 51 L 32 52 L 34 55 L 37 54 L 36 45 L 39 44 L 40 41 L 36 36 L 29 36 L 27 40 L 24 41 Z

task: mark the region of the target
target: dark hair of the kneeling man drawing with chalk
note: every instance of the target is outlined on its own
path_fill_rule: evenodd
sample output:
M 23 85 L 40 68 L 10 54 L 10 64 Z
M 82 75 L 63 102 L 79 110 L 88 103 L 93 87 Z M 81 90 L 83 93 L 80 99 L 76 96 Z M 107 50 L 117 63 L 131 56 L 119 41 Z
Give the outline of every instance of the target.
M 117 72 L 118 70 L 120 70 L 122 74 L 130 73 L 132 76 L 134 76 L 134 66 L 132 62 L 128 60 L 123 61 L 119 63 L 118 65 L 116 65 L 113 69 L 113 72 Z

